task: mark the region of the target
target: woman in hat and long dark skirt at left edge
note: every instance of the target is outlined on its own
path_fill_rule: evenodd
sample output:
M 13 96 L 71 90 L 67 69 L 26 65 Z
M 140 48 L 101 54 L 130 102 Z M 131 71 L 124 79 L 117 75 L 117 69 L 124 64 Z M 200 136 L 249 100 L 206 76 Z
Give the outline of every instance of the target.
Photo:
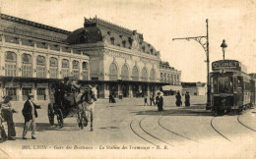
M 12 107 L 11 100 L 13 98 L 11 96 L 6 96 L 4 101 L 1 103 L 2 105 L 2 117 L 4 121 L 7 122 L 8 126 L 8 140 L 15 140 L 14 136 L 16 136 L 13 113 L 17 113 L 16 110 Z

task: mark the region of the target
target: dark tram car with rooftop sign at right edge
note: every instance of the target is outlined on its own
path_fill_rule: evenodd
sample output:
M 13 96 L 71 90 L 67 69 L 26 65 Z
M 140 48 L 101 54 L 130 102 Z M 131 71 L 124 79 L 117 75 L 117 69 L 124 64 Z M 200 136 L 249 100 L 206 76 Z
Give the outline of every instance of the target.
M 236 60 L 212 63 L 211 108 L 217 115 L 236 111 L 240 114 L 255 104 L 255 79 Z

